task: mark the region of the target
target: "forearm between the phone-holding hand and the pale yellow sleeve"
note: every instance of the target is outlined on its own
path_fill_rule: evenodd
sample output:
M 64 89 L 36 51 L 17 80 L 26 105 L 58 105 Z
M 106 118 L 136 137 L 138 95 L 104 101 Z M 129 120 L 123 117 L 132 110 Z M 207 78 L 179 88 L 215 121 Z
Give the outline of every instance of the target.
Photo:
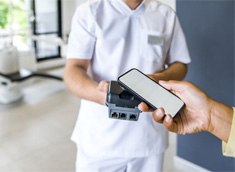
M 211 124 L 208 130 L 216 137 L 227 142 L 232 125 L 233 109 L 214 100 L 211 100 L 210 107 Z

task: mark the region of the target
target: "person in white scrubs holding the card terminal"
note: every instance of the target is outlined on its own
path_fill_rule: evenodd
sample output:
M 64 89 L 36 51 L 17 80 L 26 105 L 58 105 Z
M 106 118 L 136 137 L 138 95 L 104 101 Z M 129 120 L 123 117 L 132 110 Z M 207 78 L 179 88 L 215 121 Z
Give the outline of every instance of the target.
M 79 172 L 162 171 L 168 135 L 141 113 L 111 119 L 108 83 L 131 68 L 156 81 L 182 80 L 190 56 L 175 12 L 155 0 L 89 0 L 73 17 L 64 79 L 81 98 L 72 134 Z M 141 82 L 141 81 L 140 81 Z

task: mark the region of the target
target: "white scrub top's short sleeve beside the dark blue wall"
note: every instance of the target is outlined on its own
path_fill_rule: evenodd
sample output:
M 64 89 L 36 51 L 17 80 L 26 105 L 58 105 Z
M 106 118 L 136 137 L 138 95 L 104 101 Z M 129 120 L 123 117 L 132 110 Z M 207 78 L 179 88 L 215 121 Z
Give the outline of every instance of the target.
M 167 64 L 174 62 L 190 63 L 191 58 L 188 51 L 186 39 L 178 17 L 175 15 L 172 40 L 168 51 Z

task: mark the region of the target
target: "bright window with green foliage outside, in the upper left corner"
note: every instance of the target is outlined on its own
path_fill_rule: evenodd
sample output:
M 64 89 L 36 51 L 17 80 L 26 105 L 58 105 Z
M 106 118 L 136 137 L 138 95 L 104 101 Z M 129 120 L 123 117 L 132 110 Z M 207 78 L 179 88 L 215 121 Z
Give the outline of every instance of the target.
M 24 0 L 0 1 L 0 46 L 14 44 L 18 49 L 27 45 L 27 12 Z

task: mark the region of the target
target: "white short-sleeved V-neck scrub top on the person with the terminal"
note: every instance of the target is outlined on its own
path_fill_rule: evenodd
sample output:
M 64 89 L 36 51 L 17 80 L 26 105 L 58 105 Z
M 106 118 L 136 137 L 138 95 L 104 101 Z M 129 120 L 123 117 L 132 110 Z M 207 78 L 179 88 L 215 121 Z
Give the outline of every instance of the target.
M 73 17 L 67 56 L 90 60 L 97 82 L 117 80 L 131 68 L 152 74 L 176 61 L 190 62 L 175 12 L 155 0 L 135 10 L 123 0 L 85 2 Z M 106 106 L 87 100 L 81 101 L 72 140 L 92 156 L 150 156 L 168 146 L 167 131 L 151 113 L 141 113 L 137 122 L 111 119 Z

